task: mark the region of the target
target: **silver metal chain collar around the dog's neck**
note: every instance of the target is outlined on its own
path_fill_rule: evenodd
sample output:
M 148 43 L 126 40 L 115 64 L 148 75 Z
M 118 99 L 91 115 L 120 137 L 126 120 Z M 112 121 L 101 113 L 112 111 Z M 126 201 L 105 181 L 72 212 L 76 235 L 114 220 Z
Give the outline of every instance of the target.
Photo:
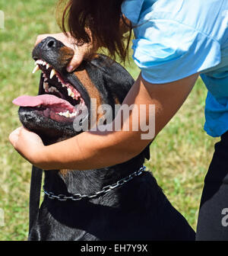
M 84 198 L 90 199 L 90 198 L 94 198 L 94 197 L 99 197 L 101 194 L 106 194 L 110 190 L 113 190 L 117 187 L 121 187 L 123 184 L 126 184 L 128 181 L 131 181 L 133 178 L 138 177 L 139 175 L 141 175 L 143 173 L 143 171 L 145 171 L 145 169 L 146 169 L 146 167 L 143 166 L 138 171 L 135 171 L 132 174 L 128 175 L 128 177 L 122 178 L 121 180 L 117 181 L 115 184 L 103 187 L 103 189 L 101 191 L 96 192 L 94 194 L 90 194 L 90 195 L 73 194 L 72 196 L 65 196 L 64 194 L 59 194 L 58 196 L 56 196 L 52 192 L 47 192 L 44 188 L 43 188 L 43 192 L 44 192 L 44 194 L 46 194 L 49 197 L 49 199 L 52 199 L 52 200 L 57 199 L 59 201 L 66 201 L 66 200 L 78 201 L 78 200 L 82 200 Z

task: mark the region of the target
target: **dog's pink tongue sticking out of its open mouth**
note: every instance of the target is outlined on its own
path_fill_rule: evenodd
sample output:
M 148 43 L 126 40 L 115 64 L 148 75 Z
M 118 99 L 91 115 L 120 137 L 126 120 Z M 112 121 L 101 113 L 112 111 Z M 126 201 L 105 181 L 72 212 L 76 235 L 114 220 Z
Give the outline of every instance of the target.
M 43 94 L 38 96 L 21 96 L 14 99 L 13 104 L 21 107 L 37 107 L 40 105 L 43 106 L 58 106 L 62 108 L 67 108 L 68 110 L 74 110 L 74 107 L 68 103 L 68 101 L 62 100 L 61 98 L 56 97 L 51 94 Z

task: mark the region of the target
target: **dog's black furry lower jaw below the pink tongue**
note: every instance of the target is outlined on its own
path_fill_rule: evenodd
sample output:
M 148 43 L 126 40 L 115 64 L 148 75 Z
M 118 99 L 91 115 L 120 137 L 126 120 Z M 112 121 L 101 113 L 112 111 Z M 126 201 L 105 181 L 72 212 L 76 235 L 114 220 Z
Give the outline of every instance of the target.
M 45 145 L 69 139 L 81 133 L 74 130 L 74 120 L 58 122 L 46 117 L 42 110 L 35 107 L 20 107 L 18 114 L 23 126 L 38 134 Z

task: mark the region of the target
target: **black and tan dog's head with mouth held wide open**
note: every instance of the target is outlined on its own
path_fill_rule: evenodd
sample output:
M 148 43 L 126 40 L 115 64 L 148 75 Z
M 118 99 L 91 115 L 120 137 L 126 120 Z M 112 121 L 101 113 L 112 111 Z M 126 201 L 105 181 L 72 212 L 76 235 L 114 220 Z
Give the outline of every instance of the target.
M 85 122 L 90 126 L 91 113 L 99 120 L 97 108 L 101 104 L 111 107 L 113 119 L 115 104 L 122 104 L 134 84 L 134 79 L 122 66 L 103 55 L 82 62 L 75 72 L 68 73 L 66 67 L 73 55 L 71 48 L 53 37 L 39 43 L 33 50 L 34 72 L 42 71 L 39 95 L 14 100 L 14 104 L 21 106 L 21 123 L 39 134 L 46 145 L 81 133 L 82 130 L 74 129 L 75 118 L 80 117 L 81 128 Z M 93 110 L 92 98 L 97 103 Z

